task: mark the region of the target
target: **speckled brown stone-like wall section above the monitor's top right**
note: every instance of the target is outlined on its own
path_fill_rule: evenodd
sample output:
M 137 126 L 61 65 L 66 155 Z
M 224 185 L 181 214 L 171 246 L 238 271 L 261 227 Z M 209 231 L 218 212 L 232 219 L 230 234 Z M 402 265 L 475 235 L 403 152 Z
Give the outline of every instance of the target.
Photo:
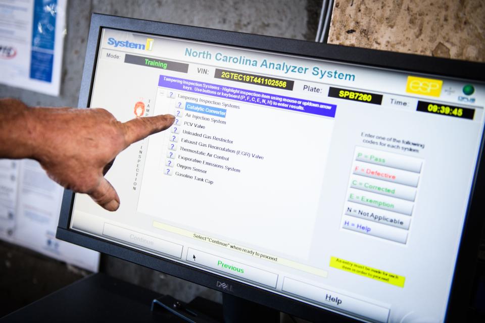
M 335 0 L 328 42 L 485 62 L 485 2 Z

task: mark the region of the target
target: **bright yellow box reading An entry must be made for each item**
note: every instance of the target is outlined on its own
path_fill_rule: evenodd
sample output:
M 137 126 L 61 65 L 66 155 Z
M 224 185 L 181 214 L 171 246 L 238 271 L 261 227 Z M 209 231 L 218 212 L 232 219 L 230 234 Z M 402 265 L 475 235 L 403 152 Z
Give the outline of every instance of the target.
M 404 287 L 404 276 L 399 276 L 393 273 L 384 272 L 380 269 L 368 267 L 366 265 L 352 262 L 337 257 L 330 257 L 330 267 L 337 268 L 349 273 L 365 276 L 376 281 L 384 282 L 387 284 Z

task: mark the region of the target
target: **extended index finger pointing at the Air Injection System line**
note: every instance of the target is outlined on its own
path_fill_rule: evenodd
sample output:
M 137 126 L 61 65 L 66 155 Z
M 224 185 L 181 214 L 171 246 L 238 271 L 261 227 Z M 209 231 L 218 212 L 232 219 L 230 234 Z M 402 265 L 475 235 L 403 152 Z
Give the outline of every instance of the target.
M 172 115 L 135 118 L 123 123 L 126 145 L 146 138 L 154 133 L 170 128 L 175 121 Z

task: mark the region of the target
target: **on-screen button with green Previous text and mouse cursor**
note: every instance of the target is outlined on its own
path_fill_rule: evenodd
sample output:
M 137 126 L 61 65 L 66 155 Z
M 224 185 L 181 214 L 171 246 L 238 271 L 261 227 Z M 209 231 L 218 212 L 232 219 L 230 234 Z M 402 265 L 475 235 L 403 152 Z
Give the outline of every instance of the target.
M 229 259 L 221 258 L 213 254 L 188 248 L 187 261 L 195 262 L 203 266 L 212 268 L 219 272 L 234 275 L 240 278 L 276 288 L 278 275 L 248 266 L 246 264 L 235 262 Z

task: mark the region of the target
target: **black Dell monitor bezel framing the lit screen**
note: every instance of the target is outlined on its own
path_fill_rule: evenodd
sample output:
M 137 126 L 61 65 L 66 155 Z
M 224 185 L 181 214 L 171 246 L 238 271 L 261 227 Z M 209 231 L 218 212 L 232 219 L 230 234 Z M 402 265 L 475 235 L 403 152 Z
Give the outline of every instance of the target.
M 291 55 L 324 59 L 350 64 L 405 71 L 415 74 L 440 75 L 450 78 L 472 80 L 475 83 L 485 81 L 485 64 L 467 61 L 410 55 L 373 49 L 321 44 L 303 40 L 277 38 L 262 35 L 245 34 L 208 28 L 183 26 L 162 22 L 153 22 L 117 16 L 93 14 L 87 41 L 86 57 L 82 83 L 79 93 L 79 107 L 87 107 L 92 90 L 93 75 L 98 57 L 99 42 L 103 28 L 148 33 L 188 40 L 204 41 L 243 48 L 267 50 Z M 409 68 L 409 67 L 412 68 Z M 483 161 L 483 134 L 480 144 L 477 167 L 475 169 L 471 197 L 467 208 L 465 226 L 460 242 L 453 284 L 446 314 L 447 321 L 463 318 L 470 303 L 478 242 L 485 218 L 480 217 L 483 202 L 480 193 L 485 183 L 485 162 Z M 169 259 L 163 259 L 149 253 L 131 249 L 123 245 L 108 242 L 90 235 L 70 230 L 74 194 L 64 191 L 59 226 L 56 237 L 77 245 L 97 250 L 121 259 L 125 259 L 175 277 L 197 283 L 212 289 L 242 297 L 265 306 L 269 306 L 296 316 L 313 321 L 354 321 L 344 315 L 327 311 L 292 298 L 284 297 L 238 281 L 211 274 L 189 267 Z M 217 288 L 224 282 L 231 289 Z

